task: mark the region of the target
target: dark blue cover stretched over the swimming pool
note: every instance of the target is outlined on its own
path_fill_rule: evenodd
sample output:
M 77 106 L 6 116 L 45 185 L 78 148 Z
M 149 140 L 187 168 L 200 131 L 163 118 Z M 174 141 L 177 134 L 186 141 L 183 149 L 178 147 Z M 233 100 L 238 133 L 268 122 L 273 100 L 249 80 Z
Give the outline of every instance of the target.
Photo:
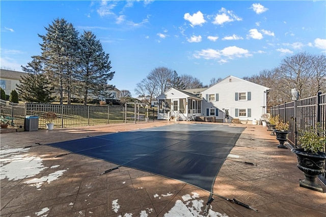
M 243 130 L 227 125 L 175 124 L 48 145 L 212 192 L 216 175 Z

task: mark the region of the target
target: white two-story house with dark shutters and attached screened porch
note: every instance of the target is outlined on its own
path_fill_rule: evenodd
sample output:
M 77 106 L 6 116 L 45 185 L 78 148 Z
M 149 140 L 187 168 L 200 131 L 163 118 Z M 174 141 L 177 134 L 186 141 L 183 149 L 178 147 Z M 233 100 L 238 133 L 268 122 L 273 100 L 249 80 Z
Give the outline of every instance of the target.
M 230 122 L 233 118 L 259 120 L 266 113 L 268 90 L 268 87 L 234 76 L 203 89 L 196 96 L 171 88 L 157 97 L 158 119 L 176 116 L 178 120 L 194 120 L 198 116 L 211 116 L 216 122 Z M 183 111 L 187 111 L 186 114 Z

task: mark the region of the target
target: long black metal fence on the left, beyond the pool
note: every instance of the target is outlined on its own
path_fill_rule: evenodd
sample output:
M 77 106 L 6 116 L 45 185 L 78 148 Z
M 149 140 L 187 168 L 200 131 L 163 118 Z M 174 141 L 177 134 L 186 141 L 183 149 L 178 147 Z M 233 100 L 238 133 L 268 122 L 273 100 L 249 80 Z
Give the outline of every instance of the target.
M 38 116 L 39 128 L 46 128 L 45 113 L 54 112 L 57 118 L 53 121 L 55 128 L 107 125 L 112 123 L 153 121 L 157 112 L 153 108 L 115 107 L 115 106 L 82 106 L 55 104 L 12 104 L 1 101 L 1 115 L 14 117 L 17 127 L 24 127 L 26 115 Z

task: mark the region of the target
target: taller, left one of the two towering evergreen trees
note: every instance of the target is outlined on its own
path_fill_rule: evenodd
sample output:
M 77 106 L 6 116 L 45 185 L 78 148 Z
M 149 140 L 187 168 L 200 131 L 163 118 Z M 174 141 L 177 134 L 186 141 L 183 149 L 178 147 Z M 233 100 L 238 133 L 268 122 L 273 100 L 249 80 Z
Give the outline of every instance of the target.
M 41 43 L 41 59 L 44 72 L 49 77 L 60 95 L 60 104 L 63 104 L 64 93 L 67 93 L 68 104 L 72 87 L 72 76 L 75 73 L 78 54 L 78 32 L 65 19 L 56 19 L 45 27 L 46 35 L 39 35 Z

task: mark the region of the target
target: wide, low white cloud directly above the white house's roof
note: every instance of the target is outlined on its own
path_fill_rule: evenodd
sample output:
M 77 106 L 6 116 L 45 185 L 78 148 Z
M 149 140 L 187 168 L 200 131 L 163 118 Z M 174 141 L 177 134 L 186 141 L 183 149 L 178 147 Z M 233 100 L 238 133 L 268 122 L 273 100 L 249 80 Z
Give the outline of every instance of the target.
M 195 58 L 204 59 L 220 59 L 219 63 L 226 63 L 227 59 L 233 59 L 234 57 L 248 57 L 252 54 L 248 50 L 239 48 L 236 46 L 226 47 L 223 50 L 214 49 L 203 49 L 201 51 L 196 51 L 194 54 Z M 224 58 L 223 58 L 224 57 Z

